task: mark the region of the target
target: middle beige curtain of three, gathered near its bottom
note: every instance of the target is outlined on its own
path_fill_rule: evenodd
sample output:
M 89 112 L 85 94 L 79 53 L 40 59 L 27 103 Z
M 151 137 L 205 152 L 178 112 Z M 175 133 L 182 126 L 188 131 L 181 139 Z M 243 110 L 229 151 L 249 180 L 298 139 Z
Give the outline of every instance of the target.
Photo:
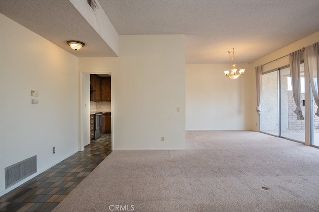
M 300 53 L 301 50 L 298 50 L 289 54 L 289 66 L 293 97 L 297 106 L 294 113 L 297 115 L 297 120 L 304 120 L 300 108 Z

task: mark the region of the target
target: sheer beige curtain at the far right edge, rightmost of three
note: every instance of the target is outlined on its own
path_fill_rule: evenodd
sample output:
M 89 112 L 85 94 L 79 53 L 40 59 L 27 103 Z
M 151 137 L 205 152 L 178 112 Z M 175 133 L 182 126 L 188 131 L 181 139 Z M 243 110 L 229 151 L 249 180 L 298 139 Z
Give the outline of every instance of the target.
M 314 101 L 317 105 L 317 111 L 315 115 L 319 116 L 319 42 L 307 46 L 305 48 L 306 51 L 306 62 L 308 64 L 308 71 L 311 89 L 314 96 Z

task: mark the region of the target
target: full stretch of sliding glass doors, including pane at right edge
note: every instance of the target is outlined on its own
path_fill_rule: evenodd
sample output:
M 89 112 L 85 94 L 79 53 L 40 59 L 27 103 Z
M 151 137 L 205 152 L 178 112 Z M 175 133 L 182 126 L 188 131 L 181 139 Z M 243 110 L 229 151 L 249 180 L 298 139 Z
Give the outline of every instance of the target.
M 309 137 L 307 145 L 310 142 L 311 145 L 319 147 L 319 117 L 315 115 L 317 105 L 313 100 L 310 84 L 305 82 L 305 79 L 309 79 L 305 78 L 304 70 L 304 63 L 301 63 L 300 106 L 304 120 L 297 120 L 294 113 L 296 104 L 289 66 L 262 75 L 260 131 L 301 143 L 305 143 L 306 137 Z M 306 86 L 309 89 L 306 89 Z M 309 116 L 305 115 L 305 112 L 309 112 Z

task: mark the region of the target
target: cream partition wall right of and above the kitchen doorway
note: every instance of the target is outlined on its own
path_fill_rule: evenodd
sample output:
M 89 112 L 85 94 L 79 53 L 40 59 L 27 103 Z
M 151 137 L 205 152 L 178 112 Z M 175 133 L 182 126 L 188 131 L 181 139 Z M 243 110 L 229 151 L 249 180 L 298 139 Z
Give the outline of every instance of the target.
M 112 72 L 114 150 L 185 149 L 184 35 L 122 35 L 119 58 L 80 58 L 79 70 Z

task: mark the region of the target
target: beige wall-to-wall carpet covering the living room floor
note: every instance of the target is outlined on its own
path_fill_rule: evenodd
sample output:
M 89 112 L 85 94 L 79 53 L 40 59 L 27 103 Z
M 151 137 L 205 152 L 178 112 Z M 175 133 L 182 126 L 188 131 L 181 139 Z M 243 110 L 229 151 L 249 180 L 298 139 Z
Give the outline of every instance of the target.
M 319 149 L 252 131 L 186 139 L 187 150 L 113 151 L 54 211 L 319 211 Z

